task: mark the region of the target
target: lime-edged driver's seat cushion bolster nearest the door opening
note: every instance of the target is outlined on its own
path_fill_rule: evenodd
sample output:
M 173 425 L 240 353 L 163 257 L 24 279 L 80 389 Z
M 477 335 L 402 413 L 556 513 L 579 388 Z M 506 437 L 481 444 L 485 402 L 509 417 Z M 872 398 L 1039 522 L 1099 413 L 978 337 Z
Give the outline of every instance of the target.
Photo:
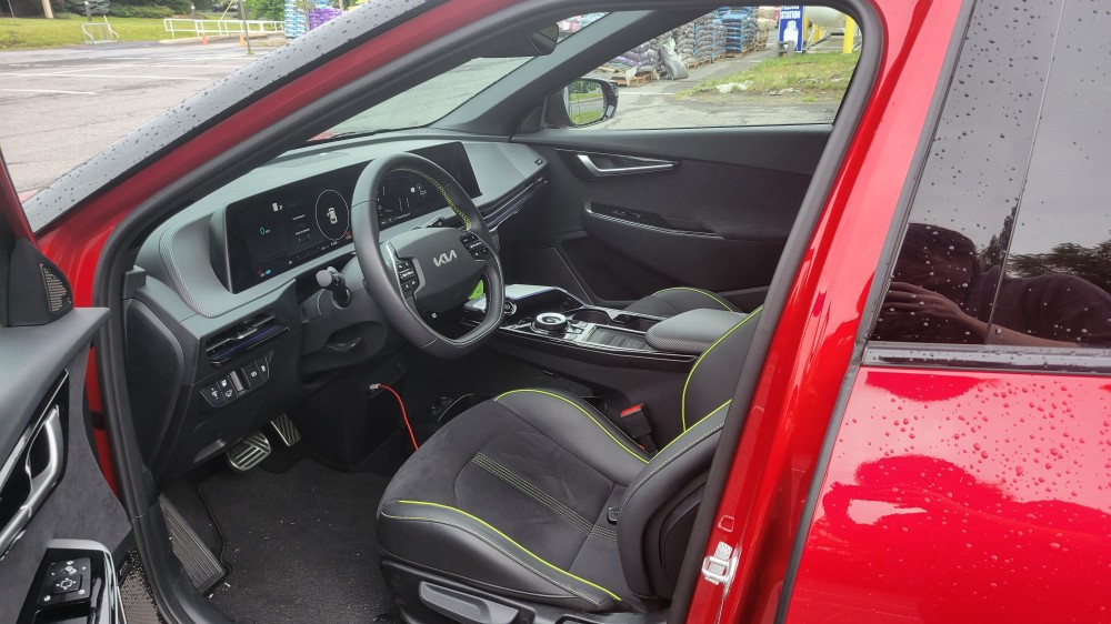
M 486 521 L 449 505 L 391 501 L 379 512 L 381 548 L 441 574 L 524 600 L 600 612 L 621 608 L 617 594 L 548 563 Z

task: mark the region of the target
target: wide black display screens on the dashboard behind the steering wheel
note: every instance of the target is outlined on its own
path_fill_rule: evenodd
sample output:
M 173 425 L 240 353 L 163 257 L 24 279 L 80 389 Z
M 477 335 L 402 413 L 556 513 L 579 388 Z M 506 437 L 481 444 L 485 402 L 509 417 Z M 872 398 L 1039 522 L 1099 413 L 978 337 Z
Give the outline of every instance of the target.
M 481 191 L 462 143 L 413 150 L 443 168 L 472 199 Z M 314 175 L 227 208 L 229 285 L 239 292 L 351 242 L 351 205 L 366 163 Z M 380 230 L 447 208 L 422 178 L 396 172 L 379 190 Z

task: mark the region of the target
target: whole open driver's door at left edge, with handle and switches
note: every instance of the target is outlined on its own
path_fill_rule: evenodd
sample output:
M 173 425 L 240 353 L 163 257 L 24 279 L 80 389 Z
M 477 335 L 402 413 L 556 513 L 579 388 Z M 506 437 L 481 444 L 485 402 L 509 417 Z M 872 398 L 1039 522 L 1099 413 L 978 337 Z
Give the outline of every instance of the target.
M 74 309 L 0 154 L 0 622 L 123 622 L 130 523 L 84 404 L 103 309 Z

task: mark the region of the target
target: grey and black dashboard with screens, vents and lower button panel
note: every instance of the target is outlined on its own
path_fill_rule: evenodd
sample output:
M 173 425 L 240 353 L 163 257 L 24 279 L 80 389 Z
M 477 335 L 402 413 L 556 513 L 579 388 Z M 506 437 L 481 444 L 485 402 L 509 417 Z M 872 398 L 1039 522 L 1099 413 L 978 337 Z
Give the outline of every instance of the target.
M 159 481 L 182 474 L 351 371 L 398 374 L 400 335 L 363 285 L 352 195 L 378 158 L 417 153 L 456 178 L 497 236 L 547 188 L 531 147 L 423 130 L 289 152 L 191 198 L 142 242 L 129 273 L 126 349 L 136 433 Z M 409 174 L 380 193 L 380 238 L 454 227 L 438 192 Z M 497 239 L 496 239 L 497 241 Z M 316 272 L 351 290 L 337 306 Z M 378 371 L 378 372 L 374 372 Z

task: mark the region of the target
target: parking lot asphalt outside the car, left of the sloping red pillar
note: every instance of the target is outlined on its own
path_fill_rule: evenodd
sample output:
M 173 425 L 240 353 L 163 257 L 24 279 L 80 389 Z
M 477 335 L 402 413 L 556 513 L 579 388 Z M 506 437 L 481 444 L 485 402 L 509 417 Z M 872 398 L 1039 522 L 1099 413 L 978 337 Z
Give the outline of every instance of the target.
M 0 53 L 0 150 L 17 189 L 52 182 L 266 52 L 190 43 Z

